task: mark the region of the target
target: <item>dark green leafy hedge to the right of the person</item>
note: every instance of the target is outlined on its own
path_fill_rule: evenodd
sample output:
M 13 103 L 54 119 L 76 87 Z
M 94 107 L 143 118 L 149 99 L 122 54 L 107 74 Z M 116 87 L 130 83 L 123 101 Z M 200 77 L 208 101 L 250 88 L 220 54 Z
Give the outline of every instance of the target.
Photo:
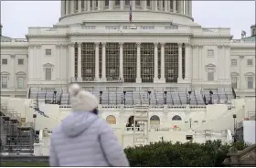
M 221 144 L 220 141 L 155 142 L 124 151 L 133 167 L 218 167 L 223 166 L 231 146 L 243 150 L 248 145 L 244 142 Z

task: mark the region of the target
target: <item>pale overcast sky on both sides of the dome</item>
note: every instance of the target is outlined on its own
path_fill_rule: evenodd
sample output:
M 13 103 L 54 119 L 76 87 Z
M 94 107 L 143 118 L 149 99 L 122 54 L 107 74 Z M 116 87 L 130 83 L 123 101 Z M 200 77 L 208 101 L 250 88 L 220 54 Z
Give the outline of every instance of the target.
M 59 20 L 60 1 L 1 1 L 1 23 L 6 37 L 25 37 L 28 26 L 52 26 Z M 193 1 L 195 22 L 206 27 L 230 27 L 240 38 L 251 35 L 255 1 Z

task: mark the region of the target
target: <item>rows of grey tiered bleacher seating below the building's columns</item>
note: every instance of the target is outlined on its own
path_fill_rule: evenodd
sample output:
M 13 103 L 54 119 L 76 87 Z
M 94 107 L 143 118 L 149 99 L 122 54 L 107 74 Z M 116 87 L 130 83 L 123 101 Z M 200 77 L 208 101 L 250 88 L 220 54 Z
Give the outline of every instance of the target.
M 162 89 L 163 90 L 163 89 Z M 99 98 L 103 105 L 120 105 L 127 106 L 135 104 L 150 105 L 205 105 L 216 103 L 230 103 L 234 99 L 231 89 L 191 89 L 179 88 L 172 91 L 162 91 L 154 89 L 145 91 L 120 91 L 117 89 L 92 89 L 91 93 Z M 211 90 L 211 92 L 209 91 Z M 52 103 L 54 99 L 60 101 L 60 105 L 69 104 L 69 93 L 67 90 L 56 89 L 56 93 L 52 89 L 30 89 L 30 99 L 45 100 L 46 103 Z M 189 92 L 188 92 L 189 91 Z M 189 94 L 190 93 L 190 94 Z M 55 98 L 56 94 L 56 98 Z M 205 100 L 204 100 L 205 98 Z

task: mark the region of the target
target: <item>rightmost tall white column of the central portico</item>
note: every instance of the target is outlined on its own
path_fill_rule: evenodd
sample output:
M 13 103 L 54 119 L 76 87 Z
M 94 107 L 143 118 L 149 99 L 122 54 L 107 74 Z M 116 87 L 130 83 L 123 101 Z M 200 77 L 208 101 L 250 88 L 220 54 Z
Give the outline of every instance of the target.
M 191 79 L 191 66 L 192 66 L 192 60 L 191 60 L 191 46 L 190 44 L 186 44 L 185 48 L 185 79 L 190 80 Z

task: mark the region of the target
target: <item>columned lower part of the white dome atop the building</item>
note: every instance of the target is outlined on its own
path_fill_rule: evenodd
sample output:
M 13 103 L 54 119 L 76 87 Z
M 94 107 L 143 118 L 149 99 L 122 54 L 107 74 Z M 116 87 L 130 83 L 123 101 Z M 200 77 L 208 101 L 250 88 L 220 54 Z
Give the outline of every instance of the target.
M 93 22 L 174 22 L 193 24 L 192 1 L 186 0 L 63 0 L 58 25 Z

